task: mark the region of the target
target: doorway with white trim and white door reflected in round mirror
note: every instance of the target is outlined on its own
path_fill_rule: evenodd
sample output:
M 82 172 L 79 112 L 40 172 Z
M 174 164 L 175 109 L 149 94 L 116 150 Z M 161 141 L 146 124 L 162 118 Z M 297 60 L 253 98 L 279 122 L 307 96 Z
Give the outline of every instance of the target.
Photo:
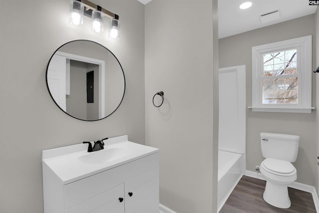
M 50 83 L 52 80 L 48 78 L 48 86 L 50 92 L 54 96 L 64 97 L 61 103 L 53 95 L 54 100 L 69 115 L 82 120 L 98 120 L 105 117 L 105 61 L 95 58 L 84 57 L 80 55 L 70 54 L 66 52 L 57 51 L 54 57 L 58 56 L 64 64 L 60 65 L 59 69 L 63 70 L 63 75 L 59 75 L 60 81 L 64 82 L 64 87 L 60 86 L 56 89 L 56 83 Z M 61 59 L 62 58 L 62 59 Z M 51 63 L 49 69 L 51 69 Z M 61 67 L 64 68 L 62 69 Z M 78 71 L 75 71 L 78 70 Z M 82 72 L 80 71 L 82 70 Z M 94 70 L 94 103 L 87 103 L 86 97 L 86 73 Z M 61 71 L 60 71 L 61 72 Z M 82 76 L 82 77 L 81 77 Z M 84 77 L 83 77 L 84 76 Z M 77 83 L 80 82 L 80 83 Z M 73 85 L 73 86 L 72 86 Z M 53 92 L 52 92 L 53 91 Z M 81 94 L 82 95 L 79 95 Z M 82 97 L 84 95 L 84 98 Z M 84 100 L 84 101 L 83 101 Z M 85 103 L 85 105 L 83 104 Z M 85 112 L 85 113 L 83 113 Z

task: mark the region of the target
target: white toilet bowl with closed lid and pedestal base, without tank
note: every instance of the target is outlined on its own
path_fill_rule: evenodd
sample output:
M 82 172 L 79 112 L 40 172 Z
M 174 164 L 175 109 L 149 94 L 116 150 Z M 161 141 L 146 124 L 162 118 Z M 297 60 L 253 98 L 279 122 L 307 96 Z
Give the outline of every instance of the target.
M 288 161 L 267 158 L 261 163 L 260 172 L 267 181 L 263 199 L 274 207 L 288 209 L 288 185 L 297 180 L 296 168 Z

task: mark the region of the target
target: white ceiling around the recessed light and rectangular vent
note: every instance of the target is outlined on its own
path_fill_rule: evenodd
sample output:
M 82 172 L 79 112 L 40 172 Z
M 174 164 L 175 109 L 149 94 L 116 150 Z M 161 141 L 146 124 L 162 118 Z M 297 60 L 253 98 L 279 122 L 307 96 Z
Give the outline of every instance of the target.
M 151 0 L 139 1 L 146 4 Z M 252 6 L 240 9 L 239 5 L 245 1 L 248 0 L 218 0 L 218 38 L 313 14 L 317 9 L 309 5 L 309 0 L 249 0 Z M 280 12 L 280 18 L 262 24 L 260 15 L 275 10 Z

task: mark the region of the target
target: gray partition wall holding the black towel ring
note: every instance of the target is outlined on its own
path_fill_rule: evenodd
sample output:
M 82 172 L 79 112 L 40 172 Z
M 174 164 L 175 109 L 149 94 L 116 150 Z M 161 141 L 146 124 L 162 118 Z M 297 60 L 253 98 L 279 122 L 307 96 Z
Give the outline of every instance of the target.
M 160 148 L 160 203 L 178 213 L 216 212 L 218 41 L 212 4 L 217 8 L 217 0 L 153 0 L 145 7 L 146 144 Z M 159 91 L 164 103 L 156 108 L 152 98 Z

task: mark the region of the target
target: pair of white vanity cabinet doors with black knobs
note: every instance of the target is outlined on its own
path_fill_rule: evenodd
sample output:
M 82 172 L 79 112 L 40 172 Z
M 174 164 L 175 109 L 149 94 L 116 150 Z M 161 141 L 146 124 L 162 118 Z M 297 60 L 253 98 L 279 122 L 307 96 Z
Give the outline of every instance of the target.
M 159 168 L 156 168 L 65 213 L 159 213 L 158 189 Z

